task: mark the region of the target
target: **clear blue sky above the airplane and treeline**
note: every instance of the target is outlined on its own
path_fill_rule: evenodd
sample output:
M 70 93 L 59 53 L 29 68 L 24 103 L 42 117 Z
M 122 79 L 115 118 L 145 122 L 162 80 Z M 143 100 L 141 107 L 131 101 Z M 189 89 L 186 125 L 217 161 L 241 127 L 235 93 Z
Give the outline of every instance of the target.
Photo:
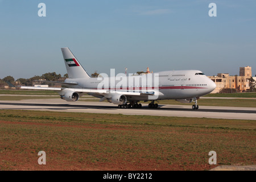
M 208 15 L 212 2 L 217 17 Z M 255 10 L 255 0 L 0 0 L 0 78 L 64 75 L 61 47 L 89 74 L 149 67 L 239 75 L 249 65 L 256 75 Z

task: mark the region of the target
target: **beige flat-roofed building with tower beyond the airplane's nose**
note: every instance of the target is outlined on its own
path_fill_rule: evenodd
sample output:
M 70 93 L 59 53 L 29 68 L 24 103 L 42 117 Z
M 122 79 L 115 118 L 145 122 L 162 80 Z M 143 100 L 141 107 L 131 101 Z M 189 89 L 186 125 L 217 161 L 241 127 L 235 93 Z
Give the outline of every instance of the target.
M 229 73 L 218 73 L 217 76 L 208 76 L 216 84 L 216 89 L 212 93 L 218 93 L 221 89 L 237 89 L 237 92 L 245 92 L 250 89 L 249 79 L 251 77 L 251 67 L 240 67 L 239 76 L 229 76 Z

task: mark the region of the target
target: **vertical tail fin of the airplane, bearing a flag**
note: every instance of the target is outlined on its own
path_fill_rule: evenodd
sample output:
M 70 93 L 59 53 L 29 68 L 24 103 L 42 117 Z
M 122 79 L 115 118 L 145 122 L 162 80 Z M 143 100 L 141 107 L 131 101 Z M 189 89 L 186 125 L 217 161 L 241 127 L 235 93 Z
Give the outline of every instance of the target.
M 89 78 L 90 76 L 85 71 L 84 68 L 82 68 L 79 61 L 76 59 L 76 57 L 73 55 L 73 53 L 69 50 L 68 47 L 61 48 L 64 62 L 67 68 L 68 77 L 69 78 Z

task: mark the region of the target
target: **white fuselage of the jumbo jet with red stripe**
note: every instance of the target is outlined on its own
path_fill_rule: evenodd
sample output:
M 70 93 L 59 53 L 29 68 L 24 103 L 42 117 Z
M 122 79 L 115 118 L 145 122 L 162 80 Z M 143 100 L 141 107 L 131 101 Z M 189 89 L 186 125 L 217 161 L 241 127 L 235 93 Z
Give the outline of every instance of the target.
M 196 98 L 212 92 L 216 87 L 212 80 L 197 70 L 163 71 L 127 77 L 68 78 L 65 82 L 77 82 L 78 85 L 72 86 L 73 88 L 122 92 L 158 92 L 158 97 L 133 96 L 128 98 L 129 101 Z M 93 93 L 90 95 L 98 96 L 98 94 Z

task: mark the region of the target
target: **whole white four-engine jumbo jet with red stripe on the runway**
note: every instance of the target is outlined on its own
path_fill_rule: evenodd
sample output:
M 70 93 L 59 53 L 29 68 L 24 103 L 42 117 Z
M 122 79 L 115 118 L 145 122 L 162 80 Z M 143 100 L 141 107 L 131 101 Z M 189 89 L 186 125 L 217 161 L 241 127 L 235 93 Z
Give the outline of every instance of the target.
M 139 101 L 151 101 L 150 108 L 157 108 L 158 100 L 176 100 L 195 104 L 197 99 L 212 92 L 216 84 L 203 72 L 197 70 L 163 71 L 140 76 L 90 77 L 79 61 L 69 50 L 61 48 L 68 77 L 64 82 L 45 81 L 65 85 L 66 88 L 43 88 L 21 86 L 21 89 L 55 90 L 66 101 L 77 101 L 84 94 L 108 100 L 118 108 L 142 107 Z M 134 81 L 135 80 L 135 81 Z

